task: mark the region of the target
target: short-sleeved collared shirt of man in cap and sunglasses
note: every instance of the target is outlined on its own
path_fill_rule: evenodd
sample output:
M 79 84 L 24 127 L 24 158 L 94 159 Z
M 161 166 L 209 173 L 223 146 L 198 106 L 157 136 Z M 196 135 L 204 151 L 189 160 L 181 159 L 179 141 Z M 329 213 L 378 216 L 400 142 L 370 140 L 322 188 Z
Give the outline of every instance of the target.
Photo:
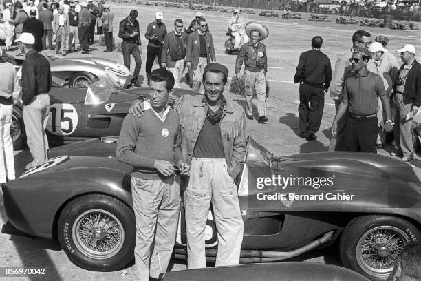
M 373 72 L 359 75 L 350 72 L 340 99 L 348 100 L 349 113 L 354 115 L 376 114 L 378 97 L 386 94 L 382 78 Z

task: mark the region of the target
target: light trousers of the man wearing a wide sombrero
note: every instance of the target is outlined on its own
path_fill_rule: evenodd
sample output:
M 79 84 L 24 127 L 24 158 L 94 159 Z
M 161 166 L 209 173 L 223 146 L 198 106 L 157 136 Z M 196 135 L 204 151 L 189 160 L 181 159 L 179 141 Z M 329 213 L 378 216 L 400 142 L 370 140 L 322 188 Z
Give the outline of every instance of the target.
M 246 96 L 246 114 L 253 115 L 252 99 L 253 88 L 257 94 L 257 112 L 260 116 L 267 116 L 266 114 L 266 76 L 265 70 L 259 72 L 251 72 L 244 70 L 244 95 Z

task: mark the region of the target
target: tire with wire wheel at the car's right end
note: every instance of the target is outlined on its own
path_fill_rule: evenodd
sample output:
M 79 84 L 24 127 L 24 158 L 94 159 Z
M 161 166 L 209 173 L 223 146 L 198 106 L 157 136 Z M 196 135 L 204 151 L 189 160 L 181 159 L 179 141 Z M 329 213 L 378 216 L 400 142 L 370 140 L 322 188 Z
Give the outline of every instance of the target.
M 400 249 L 409 242 L 419 240 L 420 230 L 407 220 L 375 215 L 354 218 L 342 233 L 339 247 L 341 261 L 348 269 L 363 274 L 370 280 L 387 280 Z M 391 246 L 396 249 L 391 249 Z M 371 260 L 364 258 L 363 247 L 366 256 L 371 254 Z M 382 264 L 369 264 L 373 259 Z

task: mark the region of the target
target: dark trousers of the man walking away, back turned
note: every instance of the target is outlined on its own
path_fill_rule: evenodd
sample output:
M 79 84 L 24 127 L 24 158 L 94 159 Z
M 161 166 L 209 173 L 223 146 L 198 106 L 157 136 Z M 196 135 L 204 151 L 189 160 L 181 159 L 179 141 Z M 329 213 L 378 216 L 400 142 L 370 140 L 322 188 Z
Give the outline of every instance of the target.
M 300 85 L 300 132 L 306 132 L 307 135 L 310 135 L 319 131 L 324 107 L 325 93 L 323 88 Z

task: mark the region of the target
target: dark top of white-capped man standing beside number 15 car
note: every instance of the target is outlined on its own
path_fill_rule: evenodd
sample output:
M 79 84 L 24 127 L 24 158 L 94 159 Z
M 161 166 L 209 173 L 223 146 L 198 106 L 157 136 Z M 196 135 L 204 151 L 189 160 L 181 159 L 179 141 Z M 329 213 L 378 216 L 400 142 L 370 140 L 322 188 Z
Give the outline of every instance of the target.
M 22 101 L 28 105 L 34 96 L 50 92 L 52 77 L 50 62 L 35 50 L 26 54 L 22 65 Z

